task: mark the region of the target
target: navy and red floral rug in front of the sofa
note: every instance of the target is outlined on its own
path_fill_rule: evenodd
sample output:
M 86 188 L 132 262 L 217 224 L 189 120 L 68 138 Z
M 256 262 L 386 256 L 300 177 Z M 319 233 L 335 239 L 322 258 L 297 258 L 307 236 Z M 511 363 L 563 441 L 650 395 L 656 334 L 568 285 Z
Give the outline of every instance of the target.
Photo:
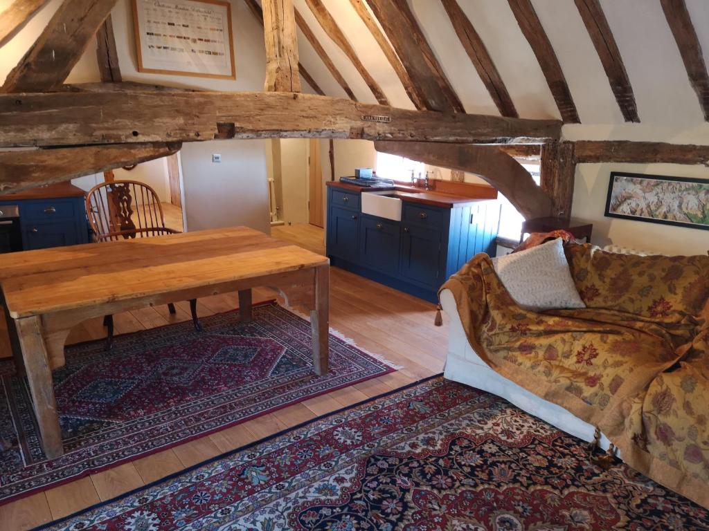
M 229 452 L 42 529 L 707 530 L 708 511 L 442 377 Z

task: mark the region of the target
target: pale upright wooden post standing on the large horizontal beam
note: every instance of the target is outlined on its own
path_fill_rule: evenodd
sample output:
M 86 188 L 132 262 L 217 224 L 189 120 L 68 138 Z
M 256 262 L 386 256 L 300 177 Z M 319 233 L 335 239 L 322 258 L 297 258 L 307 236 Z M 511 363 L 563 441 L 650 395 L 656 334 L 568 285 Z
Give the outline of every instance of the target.
M 266 42 L 264 90 L 300 92 L 293 0 L 263 0 L 262 8 Z

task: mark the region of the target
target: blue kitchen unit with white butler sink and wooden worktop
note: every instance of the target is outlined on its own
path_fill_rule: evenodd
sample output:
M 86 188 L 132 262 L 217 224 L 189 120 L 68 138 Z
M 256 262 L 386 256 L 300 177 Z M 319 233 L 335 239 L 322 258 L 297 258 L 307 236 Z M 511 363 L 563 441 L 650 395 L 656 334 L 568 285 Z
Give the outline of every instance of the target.
M 472 256 L 495 256 L 495 200 L 403 186 L 327 184 L 332 265 L 437 302 L 438 288 Z

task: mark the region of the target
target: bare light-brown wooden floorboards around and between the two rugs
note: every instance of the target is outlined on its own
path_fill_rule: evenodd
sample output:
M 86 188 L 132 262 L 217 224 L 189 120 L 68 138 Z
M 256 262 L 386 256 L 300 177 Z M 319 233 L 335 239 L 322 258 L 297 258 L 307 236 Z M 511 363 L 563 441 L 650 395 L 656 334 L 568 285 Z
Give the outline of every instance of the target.
M 171 206 L 165 207 L 168 226 L 172 223 L 179 228 L 182 213 Z M 273 227 L 272 236 L 316 253 L 325 253 L 323 229 L 313 225 Z M 220 453 L 442 371 L 447 322 L 440 328 L 433 326 L 434 304 L 337 268 L 333 268 L 330 275 L 330 295 L 330 326 L 351 338 L 357 346 L 402 365 L 402 370 L 308 399 L 239 426 L 0 506 L 1 529 L 21 531 L 61 518 Z M 254 302 L 276 297 L 272 290 L 254 290 Z M 215 295 L 199 299 L 197 313 L 208 316 L 237 306 L 235 293 Z M 191 319 L 189 302 L 178 302 L 175 307 L 175 315 L 169 314 L 166 305 L 117 314 L 114 316 L 116 333 Z M 80 324 L 69 335 L 69 343 L 106 337 L 102 321 L 96 318 Z M 1 314 L 0 352 L 9 353 Z

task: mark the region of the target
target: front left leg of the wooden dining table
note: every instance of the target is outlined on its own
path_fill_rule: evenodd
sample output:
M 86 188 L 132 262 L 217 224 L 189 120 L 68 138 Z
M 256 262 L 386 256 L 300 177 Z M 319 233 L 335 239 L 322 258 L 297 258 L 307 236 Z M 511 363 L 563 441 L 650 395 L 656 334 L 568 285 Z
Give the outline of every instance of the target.
M 64 447 L 40 317 L 24 317 L 16 319 L 15 323 L 35 416 L 42 435 L 42 446 L 47 457 L 54 459 L 64 453 Z

